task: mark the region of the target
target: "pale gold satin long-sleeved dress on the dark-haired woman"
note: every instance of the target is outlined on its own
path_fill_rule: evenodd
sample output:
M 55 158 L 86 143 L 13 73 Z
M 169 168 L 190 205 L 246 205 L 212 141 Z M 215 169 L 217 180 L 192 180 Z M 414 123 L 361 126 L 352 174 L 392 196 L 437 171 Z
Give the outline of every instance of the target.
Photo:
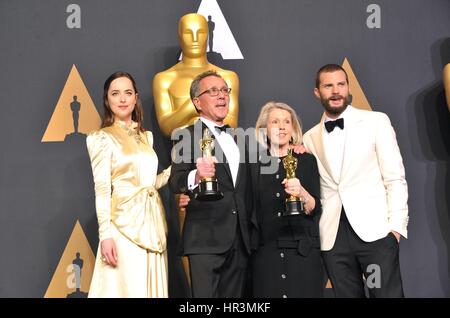
M 137 123 L 116 121 L 86 139 L 95 183 L 100 242 L 113 238 L 118 264 L 97 250 L 89 297 L 168 297 L 167 224 L 158 189 L 170 167 L 157 175 L 153 135 Z

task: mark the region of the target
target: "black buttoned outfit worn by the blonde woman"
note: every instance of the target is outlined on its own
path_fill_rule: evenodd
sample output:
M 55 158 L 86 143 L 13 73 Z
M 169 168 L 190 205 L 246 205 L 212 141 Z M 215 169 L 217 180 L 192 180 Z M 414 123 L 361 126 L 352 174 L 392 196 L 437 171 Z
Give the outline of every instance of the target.
M 311 154 L 294 154 L 296 176 L 316 200 L 311 215 L 283 217 L 286 177 L 283 158 L 275 173 L 264 174 L 269 164 L 252 166 L 254 216 L 252 233 L 252 279 L 254 297 L 321 297 L 323 267 L 320 257 L 320 179 Z

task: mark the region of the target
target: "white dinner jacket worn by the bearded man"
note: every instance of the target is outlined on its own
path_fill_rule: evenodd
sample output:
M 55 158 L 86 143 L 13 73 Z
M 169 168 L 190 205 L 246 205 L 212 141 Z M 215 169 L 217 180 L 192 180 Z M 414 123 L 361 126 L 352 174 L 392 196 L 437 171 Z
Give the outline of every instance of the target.
M 320 173 L 321 249 L 333 248 L 344 206 L 350 225 L 366 242 L 391 230 L 407 237 L 408 188 L 394 129 L 388 116 L 348 106 L 340 177 L 333 176 L 324 151 L 324 119 L 303 137 Z M 339 129 L 339 128 L 336 128 Z

